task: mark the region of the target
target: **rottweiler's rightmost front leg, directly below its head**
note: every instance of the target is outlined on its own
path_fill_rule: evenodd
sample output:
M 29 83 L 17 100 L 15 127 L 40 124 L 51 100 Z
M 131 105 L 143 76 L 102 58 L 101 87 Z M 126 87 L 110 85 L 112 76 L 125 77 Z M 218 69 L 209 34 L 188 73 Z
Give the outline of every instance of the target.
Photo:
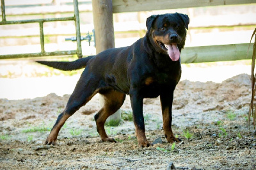
M 163 114 L 163 128 L 164 135 L 168 143 L 175 143 L 181 141 L 176 138 L 172 132 L 172 102 L 173 102 L 173 91 L 174 89 L 166 90 L 160 95 L 162 114 Z

